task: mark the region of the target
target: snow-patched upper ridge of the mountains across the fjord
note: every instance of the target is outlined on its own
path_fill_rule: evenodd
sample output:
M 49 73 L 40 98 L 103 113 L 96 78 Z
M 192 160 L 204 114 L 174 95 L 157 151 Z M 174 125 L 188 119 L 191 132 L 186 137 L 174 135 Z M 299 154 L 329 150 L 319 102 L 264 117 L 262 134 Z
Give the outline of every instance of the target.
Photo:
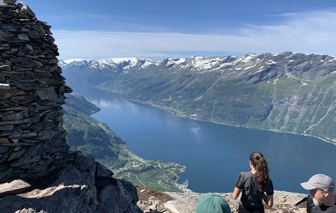
M 273 53 L 247 53 L 245 55 L 236 56 L 212 56 L 205 57 L 196 55 L 188 58 L 166 58 L 164 60 L 152 60 L 138 57 L 117 57 L 105 58 L 100 60 L 85 60 L 85 59 L 67 59 L 60 60 L 59 66 L 65 68 L 67 66 L 83 65 L 87 68 L 96 68 L 101 70 L 109 70 L 113 72 L 132 72 L 132 70 L 141 70 L 149 66 L 167 66 L 168 69 L 173 69 L 173 73 L 180 71 L 194 71 L 198 73 L 211 71 L 229 70 L 249 70 L 255 72 L 260 71 L 260 67 L 269 67 L 275 64 L 281 66 L 283 63 L 300 63 L 300 60 L 306 60 L 305 63 L 312 63 L 318 60 L 323 63 L 335 63 L 336 57 L 331 55 L 305 54 L 294 53 L 291 51 L 273 52 Z M 295 65 L 295 63 L 293 63 Z M 292 65 L 290 65 L 292 66 Z M 232 68 L 234 67 L 234 68 Z M 82 68 L 81 68 L 82 69 Z M 255 71 L 254 71 L 255 69 Z M 262 69 L 261 69 L 262 70 Z

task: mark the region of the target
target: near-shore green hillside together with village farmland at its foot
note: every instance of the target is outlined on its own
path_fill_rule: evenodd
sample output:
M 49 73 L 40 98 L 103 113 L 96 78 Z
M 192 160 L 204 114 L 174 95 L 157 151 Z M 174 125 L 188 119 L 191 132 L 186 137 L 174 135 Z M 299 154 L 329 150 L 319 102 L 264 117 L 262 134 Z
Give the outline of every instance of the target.
M 98 112 L 98 107 L 81 95 L 68 94 L 66 97 L 66 104 L 63 105 L 63 127 L 68 131 L 67 142 L 72 150 L 81 150 L 84 155 L 93 156 L 113 170 L 114 177 L 162 191 L 180 191 L 175 181 L 179 178 L 178 175 L 185 171 L 185 167 L 166 161 L 141 159 L 129 151 L 125 140 L 106 124 L 89 116 Z M 148 176 L 151 178 L 148 179 Z M 165 180 L 158 184 L 161 179 Z

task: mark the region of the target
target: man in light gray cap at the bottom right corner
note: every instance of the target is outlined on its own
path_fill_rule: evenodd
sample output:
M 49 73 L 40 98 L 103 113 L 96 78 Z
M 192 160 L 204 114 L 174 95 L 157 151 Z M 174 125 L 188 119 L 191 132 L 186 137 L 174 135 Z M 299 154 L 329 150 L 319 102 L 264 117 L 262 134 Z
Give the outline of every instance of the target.
M 307 197 L 307 213 L 336 213 L 335 184 L 325 174 L 315 174 L 307 182 L 301 183 L 310 190 Z

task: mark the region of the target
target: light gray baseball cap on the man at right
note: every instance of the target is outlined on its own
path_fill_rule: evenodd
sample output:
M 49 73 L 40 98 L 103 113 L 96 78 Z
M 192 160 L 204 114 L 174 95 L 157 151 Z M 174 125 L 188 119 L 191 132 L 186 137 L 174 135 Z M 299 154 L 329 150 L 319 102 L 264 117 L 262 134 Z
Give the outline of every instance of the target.
M 301 186 L 307 190 L 319 188 L 331 192 L 333 192 L 335 188 L 332 178 L 325 174 L 315 174 L 307 182 L 301 183 Z

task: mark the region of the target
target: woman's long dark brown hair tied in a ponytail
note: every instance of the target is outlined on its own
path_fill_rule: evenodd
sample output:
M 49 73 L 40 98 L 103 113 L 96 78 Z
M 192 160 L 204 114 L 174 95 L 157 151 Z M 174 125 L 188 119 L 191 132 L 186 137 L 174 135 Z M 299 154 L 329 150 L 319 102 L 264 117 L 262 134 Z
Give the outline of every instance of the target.
M 255 181 L 258 185 L 258 188 L 261 192 L 264 191 L 266 184 L 269 179 L 269 170 L 266 159 L 260 152 L 252 152 L 250 155 L 250 161 L 252 166 L 256 170 L 254 173 Z

